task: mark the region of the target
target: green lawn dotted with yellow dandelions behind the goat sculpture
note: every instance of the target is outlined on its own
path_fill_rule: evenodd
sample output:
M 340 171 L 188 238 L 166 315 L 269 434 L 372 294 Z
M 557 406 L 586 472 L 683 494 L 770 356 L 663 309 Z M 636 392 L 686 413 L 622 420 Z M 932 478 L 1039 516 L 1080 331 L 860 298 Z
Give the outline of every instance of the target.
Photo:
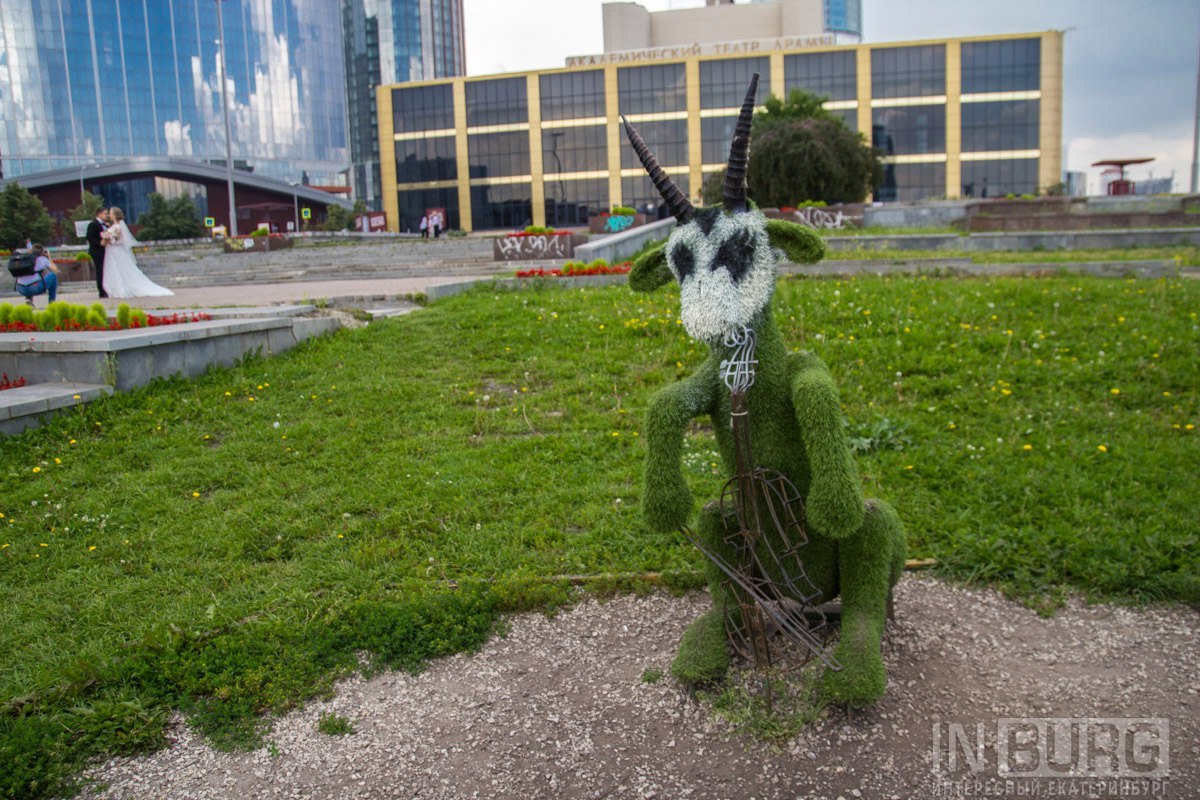
M 474 291 L 0 441 L 0 798 L 160 746 L 170 709 L 253 744 L 361 651 L 418 668 L 568 602 L 552 576 L 695 585 L 638 512 L 647 401 L 704 357 L 677 302 Z M 1046 610 L 1200 606 L 1200 282 L 791 279 L 775 307 L 913 555 Z M 715 461 L 697 426 L 698 498 Z

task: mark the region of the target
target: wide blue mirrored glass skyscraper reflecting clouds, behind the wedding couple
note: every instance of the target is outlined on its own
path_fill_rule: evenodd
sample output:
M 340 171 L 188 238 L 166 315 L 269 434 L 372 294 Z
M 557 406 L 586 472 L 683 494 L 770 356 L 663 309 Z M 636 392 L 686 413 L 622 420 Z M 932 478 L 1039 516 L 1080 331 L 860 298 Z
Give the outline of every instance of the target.
M 223 163 L 216 1 L 4 0 L 0 174 L 150 155 Z M 346 182 L 338 1 L 224 1 L 238 167 Z

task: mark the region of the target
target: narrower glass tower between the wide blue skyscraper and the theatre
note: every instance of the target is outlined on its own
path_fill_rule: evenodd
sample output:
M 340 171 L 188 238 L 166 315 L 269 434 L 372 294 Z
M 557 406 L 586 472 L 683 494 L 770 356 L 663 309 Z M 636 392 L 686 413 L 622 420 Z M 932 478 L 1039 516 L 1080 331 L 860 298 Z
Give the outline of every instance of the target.
M 341 0 L 354 194 L 383 207 L 376 86 L 467 71 L 462 0 Z

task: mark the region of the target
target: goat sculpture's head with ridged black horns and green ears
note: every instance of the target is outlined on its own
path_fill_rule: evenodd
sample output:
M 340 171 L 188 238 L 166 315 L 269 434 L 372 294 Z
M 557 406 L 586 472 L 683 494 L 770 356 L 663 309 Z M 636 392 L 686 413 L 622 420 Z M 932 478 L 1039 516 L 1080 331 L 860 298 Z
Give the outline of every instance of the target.
M 629 276 L 637 291 L 650 291 L 672 277 L 679 282 L 679 317 L 688 333 L 710 345 L 751 320 L 770 302 L 775 266 L 781 257 L 812 264 L 824 243 L 806 228 L 767 219 L 746 199 L 750 163 L 750 119 L 758 73 L 750 79 L 733 132 L 721 205 L 696 209 L 659 166 L 641 134 L 622 118 L 654 187 L 678 225 L 666 243 L 640 257 Z

